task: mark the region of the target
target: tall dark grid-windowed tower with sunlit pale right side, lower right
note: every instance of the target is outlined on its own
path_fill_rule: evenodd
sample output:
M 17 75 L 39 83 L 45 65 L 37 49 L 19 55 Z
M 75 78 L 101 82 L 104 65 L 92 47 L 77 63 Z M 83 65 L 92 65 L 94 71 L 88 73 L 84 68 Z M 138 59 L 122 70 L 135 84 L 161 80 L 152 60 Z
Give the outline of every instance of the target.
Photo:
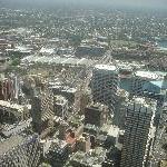
M 156 101 L 134 98 L 127 107 L 120 167 L 144 167 L 154 138 Z

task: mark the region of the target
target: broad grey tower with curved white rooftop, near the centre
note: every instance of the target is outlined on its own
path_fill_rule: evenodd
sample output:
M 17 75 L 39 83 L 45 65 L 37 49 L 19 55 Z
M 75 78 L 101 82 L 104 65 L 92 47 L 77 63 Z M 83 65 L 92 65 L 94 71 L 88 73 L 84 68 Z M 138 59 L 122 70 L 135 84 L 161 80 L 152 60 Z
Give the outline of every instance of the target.
M 118 70 L 115 66 L 97 65 L 92 70 L 91 92 L 95 102 L 101 102 L 115 110 L 118 87 Z

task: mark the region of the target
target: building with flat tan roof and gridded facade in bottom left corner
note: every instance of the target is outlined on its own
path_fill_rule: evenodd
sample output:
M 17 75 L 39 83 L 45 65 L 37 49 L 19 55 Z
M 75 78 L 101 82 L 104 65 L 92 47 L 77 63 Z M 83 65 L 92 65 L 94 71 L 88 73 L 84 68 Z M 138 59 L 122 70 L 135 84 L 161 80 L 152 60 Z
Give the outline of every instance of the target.
M 38 135 L 16 135 L 0 143 L 0 166 L 3 167 L 37 167 L 40 155 Z

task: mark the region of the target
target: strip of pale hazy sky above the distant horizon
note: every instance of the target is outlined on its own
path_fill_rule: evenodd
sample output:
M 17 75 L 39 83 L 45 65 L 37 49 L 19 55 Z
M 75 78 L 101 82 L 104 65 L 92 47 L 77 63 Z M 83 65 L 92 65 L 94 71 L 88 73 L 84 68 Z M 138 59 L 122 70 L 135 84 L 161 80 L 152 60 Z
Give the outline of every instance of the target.
M 120 7 L 140 7 L 140 8 L 156 8 L 167 9 L 167 0 L 0 0 L 6 3 L 39 3 L 42 4 L 55 4 L 57 2 L 65 4 L 91 4 L 91 6 L 120 6 Z

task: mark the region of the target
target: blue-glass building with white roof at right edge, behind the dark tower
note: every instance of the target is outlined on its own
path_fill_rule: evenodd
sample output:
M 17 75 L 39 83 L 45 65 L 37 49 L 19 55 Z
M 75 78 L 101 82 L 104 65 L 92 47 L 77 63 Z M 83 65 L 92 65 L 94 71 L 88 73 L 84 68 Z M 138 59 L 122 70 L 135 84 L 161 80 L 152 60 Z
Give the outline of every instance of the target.
M 130 96 L 141 96 L 157 100 L 156 124 L 161 115 L 161 107 L 166 101 L 167 79 L 165 72 L 136 71 L 131 78 Z

